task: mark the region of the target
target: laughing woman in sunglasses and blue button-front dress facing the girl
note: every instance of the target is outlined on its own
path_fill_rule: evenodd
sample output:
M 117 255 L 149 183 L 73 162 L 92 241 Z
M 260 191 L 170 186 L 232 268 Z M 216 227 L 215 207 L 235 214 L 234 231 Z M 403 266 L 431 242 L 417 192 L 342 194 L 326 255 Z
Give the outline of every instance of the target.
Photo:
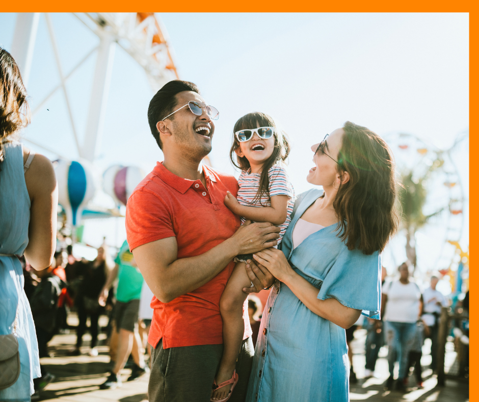
M 349 400 L 345 328 L 379 318 L 381 258 L 398 224 L 392 154 L 346 122 L 311 147 L 315 166 L 281 250 L 254 255 L 277 279 L 264 309 L 248 402 Z

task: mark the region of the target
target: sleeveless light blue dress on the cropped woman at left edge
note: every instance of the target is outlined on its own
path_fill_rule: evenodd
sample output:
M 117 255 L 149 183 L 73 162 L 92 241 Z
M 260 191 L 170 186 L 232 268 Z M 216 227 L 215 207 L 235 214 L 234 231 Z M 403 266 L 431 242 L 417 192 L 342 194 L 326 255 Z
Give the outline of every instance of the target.
M 28 245 L 30 197 L 23 173 L 23 149 L 18 142 L 4 145 L 0 164 L 0 254 L 21 256 Z M 16 335 L 20 352 L 20 376 L 0 391 L 2 401 L 30 401 L 33 379 L 40 376 L 37 336 L 30 304 L 23 290 L 23 271 L 15 256 L 0 255 L 0 335 Z

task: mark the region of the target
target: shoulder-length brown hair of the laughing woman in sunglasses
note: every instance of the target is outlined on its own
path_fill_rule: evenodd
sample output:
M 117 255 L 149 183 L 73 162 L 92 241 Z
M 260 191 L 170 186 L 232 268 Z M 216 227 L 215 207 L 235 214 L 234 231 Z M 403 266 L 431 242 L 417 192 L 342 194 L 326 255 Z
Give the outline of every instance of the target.
M 350 180 L 341 183 L 333 206 L 339 218 L 339 237 L 348 249 L 370 255 L 382 252 L 396 232 L 394 161 L 386 142 L 371 130 L 344 123 L 338 174 L 347 171 Z

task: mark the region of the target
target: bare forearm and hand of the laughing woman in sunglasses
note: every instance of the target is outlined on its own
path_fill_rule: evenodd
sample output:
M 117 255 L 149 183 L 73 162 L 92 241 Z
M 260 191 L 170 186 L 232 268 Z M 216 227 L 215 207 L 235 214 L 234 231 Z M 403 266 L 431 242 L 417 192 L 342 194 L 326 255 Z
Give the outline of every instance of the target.
M 267 248 L 253 254 L 257 263 L 266 267 L 279 281 L 283 282 L 314 314 L 323 317 L 341 328 L 350 328 L 361 315 L 361 310 L 343 306 L 335 298 L 317 298 L 319 290 L 297 274 L 289 265 L 281 250 Z

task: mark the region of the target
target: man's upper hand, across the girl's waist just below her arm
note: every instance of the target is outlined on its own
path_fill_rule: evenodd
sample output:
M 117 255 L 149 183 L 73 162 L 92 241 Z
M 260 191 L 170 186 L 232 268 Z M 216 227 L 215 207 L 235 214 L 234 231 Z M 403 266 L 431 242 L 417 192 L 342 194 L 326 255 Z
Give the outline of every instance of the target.
M 278 242 L 280 228 L 270 222 L 251 223 L 247 220 L 236 233 L 231 236 L 238 249 L 236 254 L 253 254 L 264 248 L 273 247 Z

